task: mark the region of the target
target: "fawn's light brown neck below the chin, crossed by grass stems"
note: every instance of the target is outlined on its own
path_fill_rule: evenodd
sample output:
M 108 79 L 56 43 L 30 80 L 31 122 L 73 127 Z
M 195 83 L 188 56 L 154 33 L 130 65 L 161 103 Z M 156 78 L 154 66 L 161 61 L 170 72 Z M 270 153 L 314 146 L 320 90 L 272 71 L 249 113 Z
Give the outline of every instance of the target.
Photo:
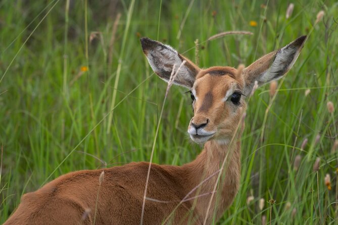
M 219 218 L 224 210 L 231 205 L 239 187 L 240 140 L 237 139 L 231 145 L 229 143 L 220 144 L 214 140 L 208 141 L 205 143 L 203 151 L 194 161 L 181 166 L 182 186 L 185 187 L 186 194 L 196 189 L 187 198 L 195 197 L 191 200 L 191 204 L 196 205 L 201 219 L 205 217 L 206 209 L 217 182 L 218 172 L 224 159 L 226 161 L 221 172 L 220 181 L 212 200 L 209 215 L 207 215 L 208 218 L 211 218 L 216 211 L 216 217 Z M 203 184 L 201 185 L 201 183 Z M 198 195 L 201 197 L 196 198 Z

